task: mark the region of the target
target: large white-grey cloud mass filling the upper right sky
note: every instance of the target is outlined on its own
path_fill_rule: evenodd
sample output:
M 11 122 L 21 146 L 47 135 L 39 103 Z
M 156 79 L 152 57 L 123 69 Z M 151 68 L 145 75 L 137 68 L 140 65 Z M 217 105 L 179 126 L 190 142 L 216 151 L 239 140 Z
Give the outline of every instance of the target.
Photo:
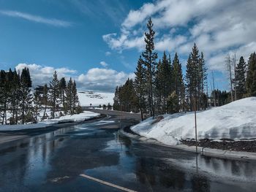
M 156 50 L 188 55 L 195 42 L 205 53 L 208 69 L 223 71 L 227 53 L 255 51 L 256 1 L 158 0 L 131 10 L 120 32 L 103 36 L 113 50 L 144 46 L 143 31 L 152 18 Z M 239 53 L 240 52 L 240 53 Z

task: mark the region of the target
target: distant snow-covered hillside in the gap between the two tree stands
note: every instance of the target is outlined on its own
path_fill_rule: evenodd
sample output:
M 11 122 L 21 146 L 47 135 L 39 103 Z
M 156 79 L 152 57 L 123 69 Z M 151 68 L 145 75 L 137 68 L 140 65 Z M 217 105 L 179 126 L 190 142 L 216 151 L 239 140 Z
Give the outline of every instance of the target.
M 82 107 L 113 104 L 114 93 L 99 93 L 93 91 L 78 91 L 78 98 Z

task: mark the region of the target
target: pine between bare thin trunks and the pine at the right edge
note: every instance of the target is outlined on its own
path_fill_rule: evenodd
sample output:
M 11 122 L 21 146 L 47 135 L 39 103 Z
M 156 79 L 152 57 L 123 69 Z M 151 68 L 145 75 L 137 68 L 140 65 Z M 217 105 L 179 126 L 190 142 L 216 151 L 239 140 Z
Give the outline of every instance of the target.
M 246 63 L 244 57 L 241 56 L 239 63 L 236 66 L 236 93 L 238 99 L 242 99 L 246 93 L 245 85 Z

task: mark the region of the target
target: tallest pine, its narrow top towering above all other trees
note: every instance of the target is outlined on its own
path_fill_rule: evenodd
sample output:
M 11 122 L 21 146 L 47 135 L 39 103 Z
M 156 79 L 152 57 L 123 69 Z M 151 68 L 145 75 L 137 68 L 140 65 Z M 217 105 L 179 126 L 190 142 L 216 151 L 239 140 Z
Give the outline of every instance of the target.
M 144 41 L 146 43 L 146 50 L 142 53 L 143 56 L 143 64 L 146 68 L 146 90 L 147 90 L 147 100 L 148 100 L 148 109 L 150 115 L 154 118 L 154 73 L 155 66 L 157 65 L 157 53 L 154 52 L 154 34 L 153 23 L 151 18 L 149 18 L 147 23 L 148 32 L 145 33 Z

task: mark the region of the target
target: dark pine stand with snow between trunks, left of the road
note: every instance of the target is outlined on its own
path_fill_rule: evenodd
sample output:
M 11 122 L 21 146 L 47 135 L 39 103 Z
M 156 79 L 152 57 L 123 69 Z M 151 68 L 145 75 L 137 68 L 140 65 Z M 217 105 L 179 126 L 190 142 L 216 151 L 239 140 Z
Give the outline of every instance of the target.
M 68 83 L 64 78 L 58 80 L 54 72 L 53 80 L 47 84 L 38 86 L 31 91 L 32 81 L 28 68 L 22 72 L 0 72 L 0 123 L 18 124 L 37 122 L 39 112 L 43 112 L 42 119 L 55 118 L 56 112 L 64 111 L 64 114 L 74 114 L 81 111 L 78 93 L 71 78 Z M 47 109 L 51 114 L 48 117 Z M 60 115 L 61 114 L 60 112 Z M 42 120 L 41 119 L 41 120 Z

